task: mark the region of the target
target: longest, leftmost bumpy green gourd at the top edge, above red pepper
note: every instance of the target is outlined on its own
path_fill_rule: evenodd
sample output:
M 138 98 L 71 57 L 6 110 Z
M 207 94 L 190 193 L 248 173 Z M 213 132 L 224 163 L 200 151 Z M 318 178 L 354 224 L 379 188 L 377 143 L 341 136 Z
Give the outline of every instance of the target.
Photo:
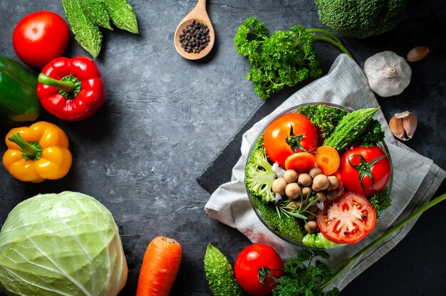
M 74 38 L 85 51 L 96 58 L 102 45 L 102 33 L 99 27 L 85 16 L 80 1 L 83 0 L 61 0 Z

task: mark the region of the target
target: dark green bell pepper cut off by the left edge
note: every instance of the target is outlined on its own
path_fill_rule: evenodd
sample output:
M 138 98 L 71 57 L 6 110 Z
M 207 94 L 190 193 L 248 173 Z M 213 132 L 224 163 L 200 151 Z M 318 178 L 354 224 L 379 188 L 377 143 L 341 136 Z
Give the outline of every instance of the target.
M 0 126 L 37 119 L 42 107 L 36 87 L 37 78 L 24 66 L 0 55 Z

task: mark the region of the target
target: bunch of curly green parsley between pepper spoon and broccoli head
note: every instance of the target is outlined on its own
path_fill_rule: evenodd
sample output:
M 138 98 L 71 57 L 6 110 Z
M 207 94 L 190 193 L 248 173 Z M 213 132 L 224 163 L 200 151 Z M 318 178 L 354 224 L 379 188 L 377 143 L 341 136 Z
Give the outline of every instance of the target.
M 248 58 L 251 65 L 247 80 L 254 82 L 254 90 L 262 100 L 279 92 L 284 86 L 294 86 L 308 77 L 321 76 L 313 40 L 331 43 L 351 56 L 339 38 L 330 31 L 307 29 L 301 25 L 269 35 L 264 23 L 256 18 L 247 18 L 234 36 L 237 53 Z

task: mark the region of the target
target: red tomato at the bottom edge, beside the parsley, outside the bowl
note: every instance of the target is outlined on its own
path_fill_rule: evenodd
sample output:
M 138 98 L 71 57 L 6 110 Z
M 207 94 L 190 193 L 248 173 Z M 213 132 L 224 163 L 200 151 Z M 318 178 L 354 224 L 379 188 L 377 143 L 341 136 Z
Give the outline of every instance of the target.
M 259 281 L 259 272 L 265 268 L 275 278 L 284 275 L 284 263 L 276 250 L 257 243 L 239 253 L 234 263 L 234 275 L 240 287 L 250 295 L 269 295 L 277 283 L 273 277 L 266 277 L 264 283 Z

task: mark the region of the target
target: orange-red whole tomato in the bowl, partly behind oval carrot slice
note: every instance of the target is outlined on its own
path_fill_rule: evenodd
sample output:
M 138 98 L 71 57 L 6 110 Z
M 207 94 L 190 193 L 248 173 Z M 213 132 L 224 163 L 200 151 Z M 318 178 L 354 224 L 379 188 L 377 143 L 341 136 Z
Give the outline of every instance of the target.
M 316 128 L 304 115 L 287 113 L 271 122 L 265 129 L 266 154 L 271 162 L 277 162 L 281 167 L 285 167 L 287 157 L 302 151 L 299 149 L 299 143 L 306 151 L 318 144 Z

